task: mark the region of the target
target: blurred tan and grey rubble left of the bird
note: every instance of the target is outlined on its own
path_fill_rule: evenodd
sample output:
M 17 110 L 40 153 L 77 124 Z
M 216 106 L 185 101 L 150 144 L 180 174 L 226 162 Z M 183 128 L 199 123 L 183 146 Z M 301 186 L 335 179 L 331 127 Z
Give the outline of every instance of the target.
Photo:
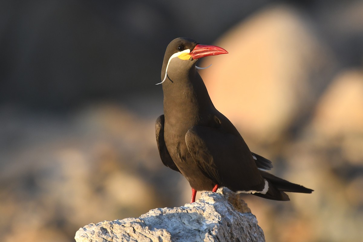
M 67 115 L 0 107 L 0 240 L 68 241 L 90 221 L 178 204 L 182 177 L 160 161 L 154 124 L 106 103 Z

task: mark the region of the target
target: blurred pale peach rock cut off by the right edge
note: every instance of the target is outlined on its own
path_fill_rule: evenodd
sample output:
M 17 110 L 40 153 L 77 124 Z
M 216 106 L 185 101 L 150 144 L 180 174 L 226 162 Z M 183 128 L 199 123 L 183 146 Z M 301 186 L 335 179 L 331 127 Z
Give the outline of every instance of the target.
M 342 71 L 319 100 L 311 125 L 319 147 L 334 147 L 344 161 L 363 165 L 363 71 Z M 330 157 L 330 163 L 332 162 Z M 337 164 L 340 164 L 338 159 Z M 344 166 L 343 166 L 344 167 Z

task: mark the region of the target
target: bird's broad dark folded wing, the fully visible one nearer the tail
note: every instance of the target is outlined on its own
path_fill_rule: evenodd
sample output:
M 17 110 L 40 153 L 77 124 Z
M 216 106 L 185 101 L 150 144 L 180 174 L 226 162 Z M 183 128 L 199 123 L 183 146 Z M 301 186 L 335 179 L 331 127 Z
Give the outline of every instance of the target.
M 212 181 L 233 191 L 261 191 L 265 180 L 244 140 L 218 128 L 193 126 L 185 142 L 195 162 Z

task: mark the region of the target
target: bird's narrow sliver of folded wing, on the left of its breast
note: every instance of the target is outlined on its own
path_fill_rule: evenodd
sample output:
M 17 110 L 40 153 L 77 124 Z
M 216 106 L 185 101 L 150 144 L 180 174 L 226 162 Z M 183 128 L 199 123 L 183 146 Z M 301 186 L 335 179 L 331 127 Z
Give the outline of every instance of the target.
M 173 159 L 169 154 L 168 149 L 165 145 L 164 140 L 164 115 L 160 115 L 158 119 L 156 119 L 155 123 L 155 131 L 156 131 L 156 143 L 158 144 L 159 155 L 163 164 L 167 167 L 173 169 L 174 171 L 179 171 L 178 167 L 176 167 Z

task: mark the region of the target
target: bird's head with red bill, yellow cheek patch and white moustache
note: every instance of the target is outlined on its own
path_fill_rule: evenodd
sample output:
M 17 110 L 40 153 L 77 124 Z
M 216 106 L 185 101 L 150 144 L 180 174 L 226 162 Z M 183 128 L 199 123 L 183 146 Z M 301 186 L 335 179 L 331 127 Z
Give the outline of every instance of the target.
M 226 50 L 218 46 L 201 45 L 190 38 L 176 38 L 166 48 L 162 67 L 162 82 L 158 84 L 170 79 L 168 73 L 178 75 L 179 73 L 188 73 L 191 68 L 203 69 L 195 66 L 199 58 L 227 53 Z

